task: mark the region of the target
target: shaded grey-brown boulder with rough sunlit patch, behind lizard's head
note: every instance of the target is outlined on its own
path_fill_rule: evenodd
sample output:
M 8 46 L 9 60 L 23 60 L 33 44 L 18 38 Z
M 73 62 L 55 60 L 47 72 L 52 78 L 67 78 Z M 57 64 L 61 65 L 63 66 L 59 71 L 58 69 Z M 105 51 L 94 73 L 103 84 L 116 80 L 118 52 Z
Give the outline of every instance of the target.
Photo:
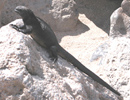
M 6 0 L 0 16 L 2 25 L 18 18 L 14 12 L 18 5 L 29 7 L 55 31 L 72 30 L 78 21 L 74 0 Z

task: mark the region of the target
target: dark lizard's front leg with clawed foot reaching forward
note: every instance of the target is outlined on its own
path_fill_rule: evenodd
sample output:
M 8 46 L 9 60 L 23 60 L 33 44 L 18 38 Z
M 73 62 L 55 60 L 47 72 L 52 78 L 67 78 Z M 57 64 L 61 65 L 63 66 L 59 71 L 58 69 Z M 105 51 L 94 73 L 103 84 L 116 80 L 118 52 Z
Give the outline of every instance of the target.
M 10 26 L 12 28 L 14 28 L 15 30 L 22 32 L 24 34 L 30 34 L 30 33 L 32 33 L 32 30 L 33 30 L 31 25 L 17 26 L 17 25 L 14 25 L 14 24 L 10 24 Z

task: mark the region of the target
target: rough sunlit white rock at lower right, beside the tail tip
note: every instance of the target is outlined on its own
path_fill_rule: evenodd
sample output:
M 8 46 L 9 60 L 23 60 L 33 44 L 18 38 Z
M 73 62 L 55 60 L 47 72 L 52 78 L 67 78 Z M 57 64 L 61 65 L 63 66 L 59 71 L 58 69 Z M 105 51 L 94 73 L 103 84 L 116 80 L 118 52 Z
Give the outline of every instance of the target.
M 124 100 L 130 99 L 130 38 L 110 38 L 107 54 L 103 56 L 103 75 L 109 77 L 110 84 L 118 87 Z M 113 81 L 114 80 L 114 81 Z M 116 82 L 116 83 L 115 83 Z

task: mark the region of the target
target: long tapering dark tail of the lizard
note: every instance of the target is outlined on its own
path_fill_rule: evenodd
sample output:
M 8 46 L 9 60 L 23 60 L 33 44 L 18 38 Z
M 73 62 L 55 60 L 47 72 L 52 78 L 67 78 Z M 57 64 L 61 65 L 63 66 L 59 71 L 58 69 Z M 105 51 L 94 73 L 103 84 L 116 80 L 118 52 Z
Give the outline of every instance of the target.
M 97 81 L 101 85 L 105 86 L 112 92 L 114 92 L 117 95 L 121 95 L 118 91 L 113 89 L 109 84 L 107 84 L 105 81 L 103 81 L 100 77 L 98 77 L 96 74 L 94 74 L 92 71 L 90 71 L 88 68 L 86 68 L 83 64 L 81 64 L 76 58 L 74 58 L 71 54 L 69 54 L 67 51 L 65 51 L 61 46 L 58 47 L 58 54 L 66 59 L 67 61 L 71 62 L 75 67 L 77 67 L 80 71 L 84 72 L 88 76 L 90 76 L 94 81 Z

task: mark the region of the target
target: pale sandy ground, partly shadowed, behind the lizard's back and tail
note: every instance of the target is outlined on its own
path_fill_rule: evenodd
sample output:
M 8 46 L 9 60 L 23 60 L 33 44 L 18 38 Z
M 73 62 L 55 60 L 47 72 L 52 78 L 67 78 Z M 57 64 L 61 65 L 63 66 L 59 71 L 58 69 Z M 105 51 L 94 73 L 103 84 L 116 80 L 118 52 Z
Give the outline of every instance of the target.
M 56 32 L 60 45 L 76 57 L 93 72 L 98 73 L 100 59 L 90 62 L 96 48 L 107 41 L 108 35 L 98 28 L 84 14 L 79 15 L 79 22 L 74 31 Z

